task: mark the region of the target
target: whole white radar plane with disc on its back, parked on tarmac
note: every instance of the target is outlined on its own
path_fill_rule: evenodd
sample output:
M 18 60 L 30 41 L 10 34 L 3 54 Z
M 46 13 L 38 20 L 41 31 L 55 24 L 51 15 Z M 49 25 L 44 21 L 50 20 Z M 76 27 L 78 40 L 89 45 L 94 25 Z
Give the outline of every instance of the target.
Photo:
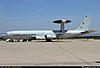
M 60 30 L 9 31 L 3 36 L 3 38 L 7 42 L 25 42 L 31 41 L 32 39 L 45 39 L 46 41 L 52 41 L 52 39 L 74 37 L 95 32 L 95 30 L 88 30 L 90 16 L 85 16 L 81 25 L 75 30 L 65 30 L 64 24 L 70 22 L 70 20 L 53 21 L 53 23 L 61 24 Z

